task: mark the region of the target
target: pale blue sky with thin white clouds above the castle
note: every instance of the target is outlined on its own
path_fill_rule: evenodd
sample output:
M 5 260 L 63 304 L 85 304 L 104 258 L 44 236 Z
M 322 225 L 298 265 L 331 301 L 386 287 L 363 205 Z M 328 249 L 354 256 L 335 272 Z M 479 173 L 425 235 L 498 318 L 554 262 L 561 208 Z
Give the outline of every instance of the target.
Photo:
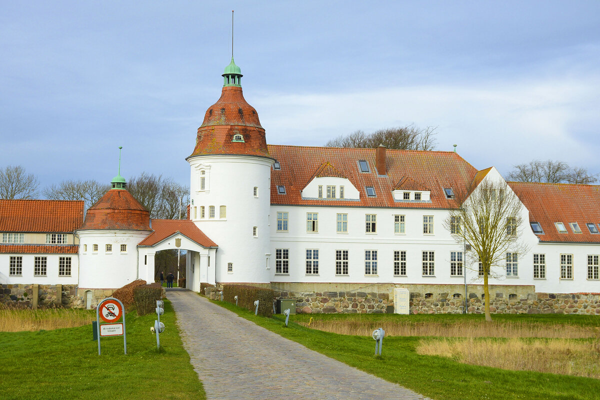
M 184 160 L 231 54 L 267 142 L 437 127 L 473 166 L 600 172 L 598 1 L 0 0 L 0 167 L 41 187 Z

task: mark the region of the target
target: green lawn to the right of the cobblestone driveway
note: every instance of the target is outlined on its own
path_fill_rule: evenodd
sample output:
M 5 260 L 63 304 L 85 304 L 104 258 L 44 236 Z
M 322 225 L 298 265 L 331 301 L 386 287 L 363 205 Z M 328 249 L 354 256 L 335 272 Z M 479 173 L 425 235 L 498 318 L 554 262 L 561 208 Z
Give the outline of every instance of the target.
M 253 312 L 225 302 L 215 302 L 230 309 L 259 326 L 272 330 L 285 338 L 299 342 L 312 350 L 340 360 L 385 380 L 401 384 L 415 392 L 436 400 L 484 399 L 600 399 L 600 380 L 543 374 L 540 372 L 508 371 L 498 368 L 466 365 L 438 356 L 420 356 L 415 347 L 421 338 L 388 337 L 383 340 L 382 356 L 374 356 L 375 342 L 370 337 L 345 336 L 308 329 L 293 321 L 306 321 L 311 315 L 290 315 L 290 325 L 285 327 L 285 317 L 256 317 Z M 313 315 L 314 318 L 365 318 L 385 321 L 392 318 L 411 318 L 419 321 L 457 321 L 463 315 Z M 574 318 L 575 317 L 575 318 Z M 479 319 L 482 315 L 467 315 Z M 598 326 L 598 317 L 566 315 L 494 315 L 496 320 L 530 320 L 547 323 L 577 323 Z M 518 357 L 518 354 L 515 354 Z

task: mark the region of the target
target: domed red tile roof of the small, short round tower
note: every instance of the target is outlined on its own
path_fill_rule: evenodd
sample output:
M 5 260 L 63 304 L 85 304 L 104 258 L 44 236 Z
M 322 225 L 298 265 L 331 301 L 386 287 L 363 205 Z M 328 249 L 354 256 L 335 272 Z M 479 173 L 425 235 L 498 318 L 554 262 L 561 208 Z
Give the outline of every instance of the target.
M 89 207 L 79 230 L 147 230 L 150 213 L 124 189 L 111 189 Z

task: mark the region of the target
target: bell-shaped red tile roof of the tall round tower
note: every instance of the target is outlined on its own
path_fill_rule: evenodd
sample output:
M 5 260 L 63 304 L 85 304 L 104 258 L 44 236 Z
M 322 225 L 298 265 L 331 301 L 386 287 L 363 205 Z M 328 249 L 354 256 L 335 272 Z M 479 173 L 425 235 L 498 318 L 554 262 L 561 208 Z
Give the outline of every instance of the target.
M 244 142 L 232 142 L 241 134 Z M 242 88 L 224 86 L 217 103 L 206 110 L 190 155 L 242 154 L 269 157 L 259 115 L 244 99 Z

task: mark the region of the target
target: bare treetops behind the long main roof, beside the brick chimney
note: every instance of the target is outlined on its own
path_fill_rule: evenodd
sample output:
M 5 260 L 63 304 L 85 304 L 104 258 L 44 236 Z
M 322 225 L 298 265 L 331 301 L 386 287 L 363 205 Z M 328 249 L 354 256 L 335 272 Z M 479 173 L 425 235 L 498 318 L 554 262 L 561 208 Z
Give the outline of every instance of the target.
M 325 144 L 328 147 L 376 148 L 384 145 L 388 149 L 433 150 L 436 145 L 435 127 L 419 129 L 407 127 L 384 128 L 367 134 L 355 131 L 347 136 L 338 136 Z

